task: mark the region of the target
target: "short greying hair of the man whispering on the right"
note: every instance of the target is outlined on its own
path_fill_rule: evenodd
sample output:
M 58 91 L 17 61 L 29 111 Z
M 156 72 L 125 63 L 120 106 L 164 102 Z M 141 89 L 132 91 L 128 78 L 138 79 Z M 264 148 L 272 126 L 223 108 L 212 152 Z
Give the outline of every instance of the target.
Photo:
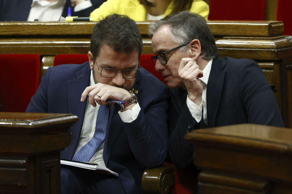
M 149 35 L 153 35 L 163 25 L 171 26 L 173 41 L 175 43 L 181 45 L 198 39 L 201 43 L 201 55 L 204 59 L 211 60 L 219 57 L 214 36 L 205 18 L 201 15 L 188 11 L 168 15 L 149 26 Z M 185 48 L 182 47 L 181 49 Z

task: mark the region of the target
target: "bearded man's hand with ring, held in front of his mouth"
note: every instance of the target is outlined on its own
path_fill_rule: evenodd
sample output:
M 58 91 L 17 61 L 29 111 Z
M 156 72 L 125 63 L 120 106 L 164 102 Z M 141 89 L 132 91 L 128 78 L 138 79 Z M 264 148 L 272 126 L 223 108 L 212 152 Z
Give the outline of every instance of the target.
M 83 102 L 87 98 L 87 95 L 89 103 L 93 107 L 96 107 L 95 102 L 100 105 L 105 105 L 108 104 L 108 102 L 106 101 L 107 99 L 125 101 L 126 99 L 131 97 L 131 94 L 127 90 L 103 83 L 97 83 L 95 85 L 86 87 L 81 94 L 80 100 Z M 131 108 L 132 106 L 130 106 L 128 107 Z M 125 110 L 128 110 L 128 107 L 126 107 Z

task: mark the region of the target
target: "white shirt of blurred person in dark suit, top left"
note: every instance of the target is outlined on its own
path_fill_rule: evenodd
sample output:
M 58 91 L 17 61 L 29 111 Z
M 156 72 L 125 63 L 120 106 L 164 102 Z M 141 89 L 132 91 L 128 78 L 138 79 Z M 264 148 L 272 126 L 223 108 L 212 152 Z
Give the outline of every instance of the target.
M 32 0 L 27 21 L 38 19 L 39 22 L 59 21 L 62 15 L 66 0 L 49 2 L 46 0 Z M 81 11 L 91 7 L 91 1 L 84 1 L 74 7 L 74 11 Z

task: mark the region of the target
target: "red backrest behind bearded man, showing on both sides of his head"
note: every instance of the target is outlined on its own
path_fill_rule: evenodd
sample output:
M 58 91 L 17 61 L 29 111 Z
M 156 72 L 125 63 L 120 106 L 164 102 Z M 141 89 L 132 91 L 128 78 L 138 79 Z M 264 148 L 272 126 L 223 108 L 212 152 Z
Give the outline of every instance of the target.
M 155 71 L 155 66 L 151 60 L 151 56 L 153 55 L 141 55 L 140 57 L 140 66 L 152 73 L 155 77 L 159 80 L 164 82 L 164 77 L 161 76 L 161 73 Z M 72 55 L 72 54 L 60 54 L 56 55 L 54 59 L 53 66 L 60 65 L 60 64 L 82 64 L 88 61 L 87 55 Z

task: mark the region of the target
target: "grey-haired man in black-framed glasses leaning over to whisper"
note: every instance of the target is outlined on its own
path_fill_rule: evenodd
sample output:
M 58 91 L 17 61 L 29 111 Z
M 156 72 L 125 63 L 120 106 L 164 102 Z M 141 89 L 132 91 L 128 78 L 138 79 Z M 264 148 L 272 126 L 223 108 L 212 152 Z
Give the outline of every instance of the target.
M 149 27 L 152 61 L 171 89 L 169 155 L 180 167 L 192 165 L 193 129 L 254 123 L 283 127 L 276 98 L 258 64 L 220 58 L 206 20 L 180 12 Z

